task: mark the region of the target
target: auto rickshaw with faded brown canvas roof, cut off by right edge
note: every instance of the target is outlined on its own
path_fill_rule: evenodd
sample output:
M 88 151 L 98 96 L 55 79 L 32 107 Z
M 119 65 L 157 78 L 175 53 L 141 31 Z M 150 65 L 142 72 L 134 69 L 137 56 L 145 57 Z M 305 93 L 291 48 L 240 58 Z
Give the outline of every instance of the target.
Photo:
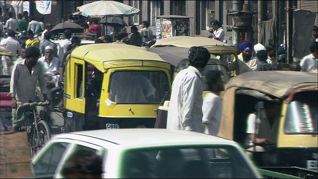
M 264 107 L 266 103 L 271 103 L 272 108 Z M 248 151 L 252 152 L 257 166 L 317 171 L 317 74 L 291 71 L 244 73 L 226 85 L 222 110 L 218 136 L 234 140 L 246 150 L 260 144 L 255 137 L 251 140 L 247 133 L 250 114 L 259 119 L 255 120 L 259 125 L 254 125 L 258 138 L 262 138 L 261 135 L 265 138 L 263 126 L 267 122 L 270 125 L 270 148 L 266 147 L 269 142 L 265 142 L 262 143 L 264 151 Z

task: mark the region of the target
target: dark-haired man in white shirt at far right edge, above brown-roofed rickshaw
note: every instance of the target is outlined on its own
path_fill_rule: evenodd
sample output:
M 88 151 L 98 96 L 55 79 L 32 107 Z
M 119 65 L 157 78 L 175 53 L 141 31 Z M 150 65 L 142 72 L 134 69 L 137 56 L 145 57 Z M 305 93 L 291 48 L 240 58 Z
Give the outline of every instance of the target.
M 312 42 L 309 49 L 311 54 L 305 56 L 300 62 L 303 72 L 311 72 L 318 69 L 318 42 Z

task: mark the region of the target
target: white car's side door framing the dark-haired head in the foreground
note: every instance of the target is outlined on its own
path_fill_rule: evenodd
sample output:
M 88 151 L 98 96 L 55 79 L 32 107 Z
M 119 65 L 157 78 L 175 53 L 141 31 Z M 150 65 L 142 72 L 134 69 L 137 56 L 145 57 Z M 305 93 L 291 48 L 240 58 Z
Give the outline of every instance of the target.
M 98 142 L 94 142 L 94 143 L 97 144 Z M 103 170 L 104 170 L 105 159 L 106 159 L 106 149 L 104 147 L 101 147 L 92 143 L 74 140 L 72 147 L 70 147 L 70 150 L 65 154 L 65 156 L 63 157 L 63 160 L 61 161 L 61 165 L 59 165 L 58 169 L 56 170 L 55 177 L 54 177 L 55 179 L 64 179 L 63 175 L 61 174 L 64 164 L 70 158 L 70 156 L 79 149 L 91 150 L 96 152 L 97 155 L 101 156 L 101 158 L 103 159 Z

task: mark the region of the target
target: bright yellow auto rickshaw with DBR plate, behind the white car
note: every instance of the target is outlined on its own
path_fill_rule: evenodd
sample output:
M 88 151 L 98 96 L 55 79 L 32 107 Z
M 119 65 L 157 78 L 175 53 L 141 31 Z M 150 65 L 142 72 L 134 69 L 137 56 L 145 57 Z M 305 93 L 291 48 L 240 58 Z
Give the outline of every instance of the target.
M 79 46 L 65 64 L 65 131 L 153 128 L 170 87 L 170 64 L 155 53 L 125 44 Z

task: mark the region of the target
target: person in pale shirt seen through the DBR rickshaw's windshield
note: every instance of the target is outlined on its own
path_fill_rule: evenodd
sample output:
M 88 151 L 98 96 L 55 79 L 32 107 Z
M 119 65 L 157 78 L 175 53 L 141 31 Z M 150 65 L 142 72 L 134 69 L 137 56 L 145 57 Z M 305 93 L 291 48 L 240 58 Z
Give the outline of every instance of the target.
M 132 82 L 131 72 L 116 72 L 110 84 L 109 99 L 115 102 L 146 101 L 140 84 Z

